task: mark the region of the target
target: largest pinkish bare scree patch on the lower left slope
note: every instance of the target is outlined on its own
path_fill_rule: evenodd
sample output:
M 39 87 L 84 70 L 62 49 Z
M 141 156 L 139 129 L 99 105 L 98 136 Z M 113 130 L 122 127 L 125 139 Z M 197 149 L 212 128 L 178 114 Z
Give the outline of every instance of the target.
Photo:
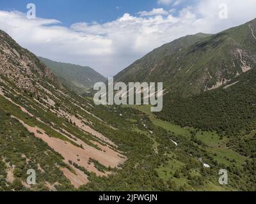
M 17 119 L 16 117 L 13 118 Z M 102 148 L 103 151 L 97 150 L 77 138 L 77 141 L 74 141 L 76 141 L 78 144 L 82 144 L 82 149 L 80 147 L 77 147 L 76 145 L 73 145 L 72 143 L 60 140 L 59 138 L 50 137 L 45 133 L 43 129 L 28 126 L 28 124 L 26 124 L 22 120 L 19 120 L 19 122 L 25 128 L 27 128 L 30 133 L 34 133 L 37 138 L 40 138 L 45 143 L 47 143 L 49 147 L 60 153 L 61 156 L 63 156 L 66 164 L 70 165 L 70 161 L 72 161 L 72 163 L 76 163 L 79 166 L 84 167 L 86 170 L 96 173 L 96 175 L 98 176 L 106 176 L 109 174 L 109 172 L 103 173 L 97 170 L 93 163 L 89 163 L 90 158 L 99 161 L 100 164 L 106 167 L 111 166 L 112 168 L 118 167 L 118 164 L 124 163 L 124 161 L 126 160 L 124 156 L 121 156 L 118 152 L 115 152 L 115 150 L 100 145 L 99 143 L 97 145 L 99 145 L 99 147 Z M 83 172 L 82 174 L 81 171 L 77 168 L 74 168 L 74 170 L 76 171 L 76 175 L 72 172 L 69 173 L 69 170 L 62 171 L 63 173 L 65 172 L 65 176 L 67 177 L 67 179 L 70 180 L 70 182 L 72 182 L 74 186 L 81 186 L 83 184 L 87 184 L 87 176 Z

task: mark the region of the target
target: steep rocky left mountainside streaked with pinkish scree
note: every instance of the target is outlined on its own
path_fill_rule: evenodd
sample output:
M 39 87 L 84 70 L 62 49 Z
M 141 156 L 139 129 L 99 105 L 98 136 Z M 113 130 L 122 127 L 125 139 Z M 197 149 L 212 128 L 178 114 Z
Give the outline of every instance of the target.
M 56 189 L 108 176 L 126 160 L 100 133 L 113 129 L 93 115 L 93 103 L 68 91 L 40 60 L 0 31 L 1 188 Z M 38 185 L 26 171 L 38 171 Z M 72 185 L 71 185 L 72 184 Z M 55 185 L 55 187 L 54 187 Z

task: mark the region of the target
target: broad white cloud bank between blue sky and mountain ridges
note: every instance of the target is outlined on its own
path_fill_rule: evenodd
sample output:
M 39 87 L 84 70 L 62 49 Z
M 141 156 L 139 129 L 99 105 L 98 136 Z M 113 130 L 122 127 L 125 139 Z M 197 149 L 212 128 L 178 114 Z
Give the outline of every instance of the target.
M 29 20 L 17 11 L 0 11 L 0 29 L 36 55 L 92 66 L 107 77 L 163 43 L 186 34 L 217 33 L 255 18 L 255 0 L 196 2 L 177 10 L 175 16 L 125 13 L 104 24 L 77 22 L 70 27 L 54 19 Z M 228 5 L 227 19 L 218 16 L 221 3 Z

